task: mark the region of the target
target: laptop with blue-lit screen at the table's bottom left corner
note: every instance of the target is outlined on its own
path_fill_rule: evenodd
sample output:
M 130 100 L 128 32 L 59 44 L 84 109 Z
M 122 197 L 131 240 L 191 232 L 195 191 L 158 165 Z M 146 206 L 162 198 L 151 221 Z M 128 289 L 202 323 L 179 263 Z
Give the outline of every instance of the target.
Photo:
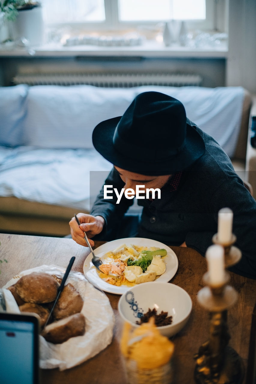
M 38 384 L 38 345 L 38 316 L 0 312 L 1 384 Z

